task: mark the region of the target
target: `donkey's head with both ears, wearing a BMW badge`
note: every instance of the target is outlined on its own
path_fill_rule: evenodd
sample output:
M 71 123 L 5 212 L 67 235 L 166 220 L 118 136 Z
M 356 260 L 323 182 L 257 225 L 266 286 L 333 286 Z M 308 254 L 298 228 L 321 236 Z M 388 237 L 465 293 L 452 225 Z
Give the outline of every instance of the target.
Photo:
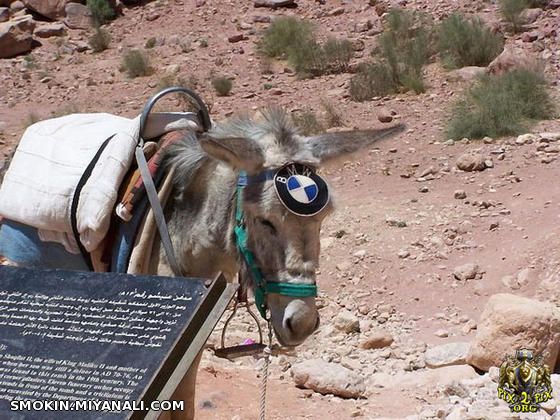
M 332 210 L 327 185 L 316 169 L 401 129 L 303 137 L 286 112 L 271 108 L 257 118 L 219 124 L 202 136 L 201 145 L 210 156 L 247 175 L 241 177 L 246 186 L 238 194 L 247 248 L 264 282 L 288 283 L 287 289 L 296 290 L 298 286 L 292 285 L 315 285 L 321 224 Z M 266 295 L 276 337 L 283 345 L 302 343 L 319 325 L 314 297 L 297 296 L 281 289 Z

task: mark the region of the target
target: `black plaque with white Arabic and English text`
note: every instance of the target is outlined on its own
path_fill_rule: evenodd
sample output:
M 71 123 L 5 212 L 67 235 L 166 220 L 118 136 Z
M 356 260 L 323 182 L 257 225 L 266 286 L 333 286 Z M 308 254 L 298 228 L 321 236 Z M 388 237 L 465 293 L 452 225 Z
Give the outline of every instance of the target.
M 154 417 L 140 402 L 171 399 L 233 293 L 221 276 L 0 266 L 0 418 Z M 13 411 L 13 400 L 130 401 L 136 410 Z

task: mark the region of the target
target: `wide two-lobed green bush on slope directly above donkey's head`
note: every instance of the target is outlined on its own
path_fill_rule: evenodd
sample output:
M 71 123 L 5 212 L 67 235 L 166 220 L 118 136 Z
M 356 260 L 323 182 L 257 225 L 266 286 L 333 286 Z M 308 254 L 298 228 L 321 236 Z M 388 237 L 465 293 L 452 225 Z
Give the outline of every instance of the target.
M 313 26 L 294 17 L 274 20 L 258 50 L 264 57 L 288 60 L 300 77 L 345 72 L 354 55 L 349 40 L 331 38 L 320 45 Z

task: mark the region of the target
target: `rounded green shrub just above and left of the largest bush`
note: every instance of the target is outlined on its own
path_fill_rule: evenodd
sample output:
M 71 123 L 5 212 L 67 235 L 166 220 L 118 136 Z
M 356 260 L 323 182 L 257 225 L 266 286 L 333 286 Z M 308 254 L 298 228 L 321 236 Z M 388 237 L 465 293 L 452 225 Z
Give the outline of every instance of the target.
M 438 50 L 448 68 L 485 67 L 504 47 L 503 38 L 480 19 L 466 19 L 461 14 L 446 18 L 438 32 Z

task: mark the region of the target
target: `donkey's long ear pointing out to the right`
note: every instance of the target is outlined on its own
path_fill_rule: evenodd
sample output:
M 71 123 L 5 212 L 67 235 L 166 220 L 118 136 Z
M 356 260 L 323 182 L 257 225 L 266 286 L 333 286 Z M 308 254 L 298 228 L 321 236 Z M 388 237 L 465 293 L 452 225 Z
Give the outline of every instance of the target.
M 377 140 L 394 136 L 402 132 L 404 128 L 404 124 L 399 124 L 381 129 L 325 133 L 305 138 L 304 144 L 314 157 L 325 162 L 348 153 L 354 153 Z

